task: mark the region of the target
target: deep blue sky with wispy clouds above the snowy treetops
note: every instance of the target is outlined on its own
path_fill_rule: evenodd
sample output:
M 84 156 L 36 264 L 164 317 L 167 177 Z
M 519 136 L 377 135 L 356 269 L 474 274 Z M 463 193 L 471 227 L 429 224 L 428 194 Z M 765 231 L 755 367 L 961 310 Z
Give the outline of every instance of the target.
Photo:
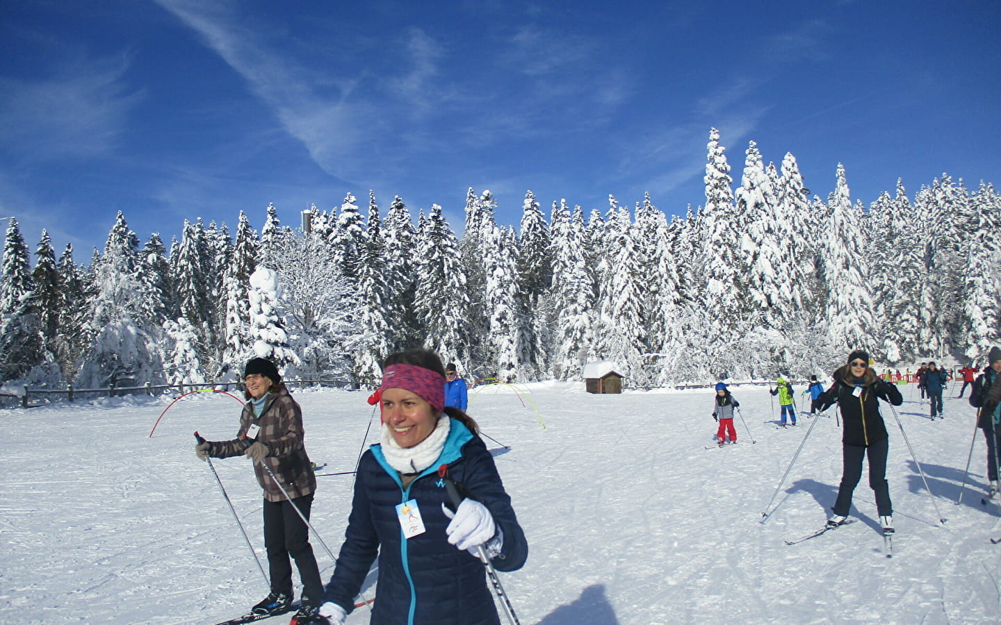
M 207 8 L 206 8 L 207 7 Z M 285 224 L 347 192 L 382 212 L 490 189 L 517 225 L 646 191 L 704 202 L 709 130 L 740 184 L 748 141 L 826 198 L 867 204 L 948 172 L 1001 184 L 1001 3 L 3 0 L 0 216 L 78 262 L 118 210 Z

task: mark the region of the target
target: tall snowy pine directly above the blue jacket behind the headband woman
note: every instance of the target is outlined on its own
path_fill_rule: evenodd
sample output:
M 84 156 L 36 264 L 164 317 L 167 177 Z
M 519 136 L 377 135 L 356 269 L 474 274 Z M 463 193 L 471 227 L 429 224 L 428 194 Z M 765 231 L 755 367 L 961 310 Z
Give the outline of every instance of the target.
M 458 241 L 437 204 L 431 205 L 425 227 L 418 230 L 415 258 L 413 309 L 425 332 L 423 345 L 463 369 L 469 363 L 465 328 L 469 298 Z

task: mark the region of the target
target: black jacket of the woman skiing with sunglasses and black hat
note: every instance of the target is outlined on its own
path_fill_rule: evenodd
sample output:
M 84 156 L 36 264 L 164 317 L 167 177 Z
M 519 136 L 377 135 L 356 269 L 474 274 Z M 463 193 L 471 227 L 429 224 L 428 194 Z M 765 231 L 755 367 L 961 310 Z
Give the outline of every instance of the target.
M 834 384 L 817 400 L 821 411 L 835 403 L 841 408 L 841 417 L 845 421 L 841 442 L 868 447 L 888 438 L 886 424 L 879 412 L 879 398 L 899 406 L 904 403 L 903 395 L 895 384 L 879 378 L 860 385 L 848 384 L 843 377 L 845 367 L 834 372 Z

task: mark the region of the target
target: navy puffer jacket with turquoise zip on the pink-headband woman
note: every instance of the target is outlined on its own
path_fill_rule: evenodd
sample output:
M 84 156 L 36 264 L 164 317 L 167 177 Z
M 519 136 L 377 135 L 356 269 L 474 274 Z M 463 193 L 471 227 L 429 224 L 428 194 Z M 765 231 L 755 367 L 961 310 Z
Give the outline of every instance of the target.
M 504 533 L 504 548 L 491 563 L 497 571 L 520 569 L 529 555 L 511 497 L 504 490 L 493 457 L 477 436 L 452 419 L 438 461 L 404 489 L 398 473 L 372 445 L 358 465 L 354 499 L 344 544 L 326 586 L 324 601 L 352 610 L 365 575 L 378 554 L 378 579 L 370 625 L 497 625 L 493 596 L 478 558 L 449 545 L 444 533 L 448 502 L 437 469 L 464 484 L 490 511 Z M 415 500 L 423 534 L 402 538 L 395 506 Z M 366 608 L 362 608 L 366 609 Z

